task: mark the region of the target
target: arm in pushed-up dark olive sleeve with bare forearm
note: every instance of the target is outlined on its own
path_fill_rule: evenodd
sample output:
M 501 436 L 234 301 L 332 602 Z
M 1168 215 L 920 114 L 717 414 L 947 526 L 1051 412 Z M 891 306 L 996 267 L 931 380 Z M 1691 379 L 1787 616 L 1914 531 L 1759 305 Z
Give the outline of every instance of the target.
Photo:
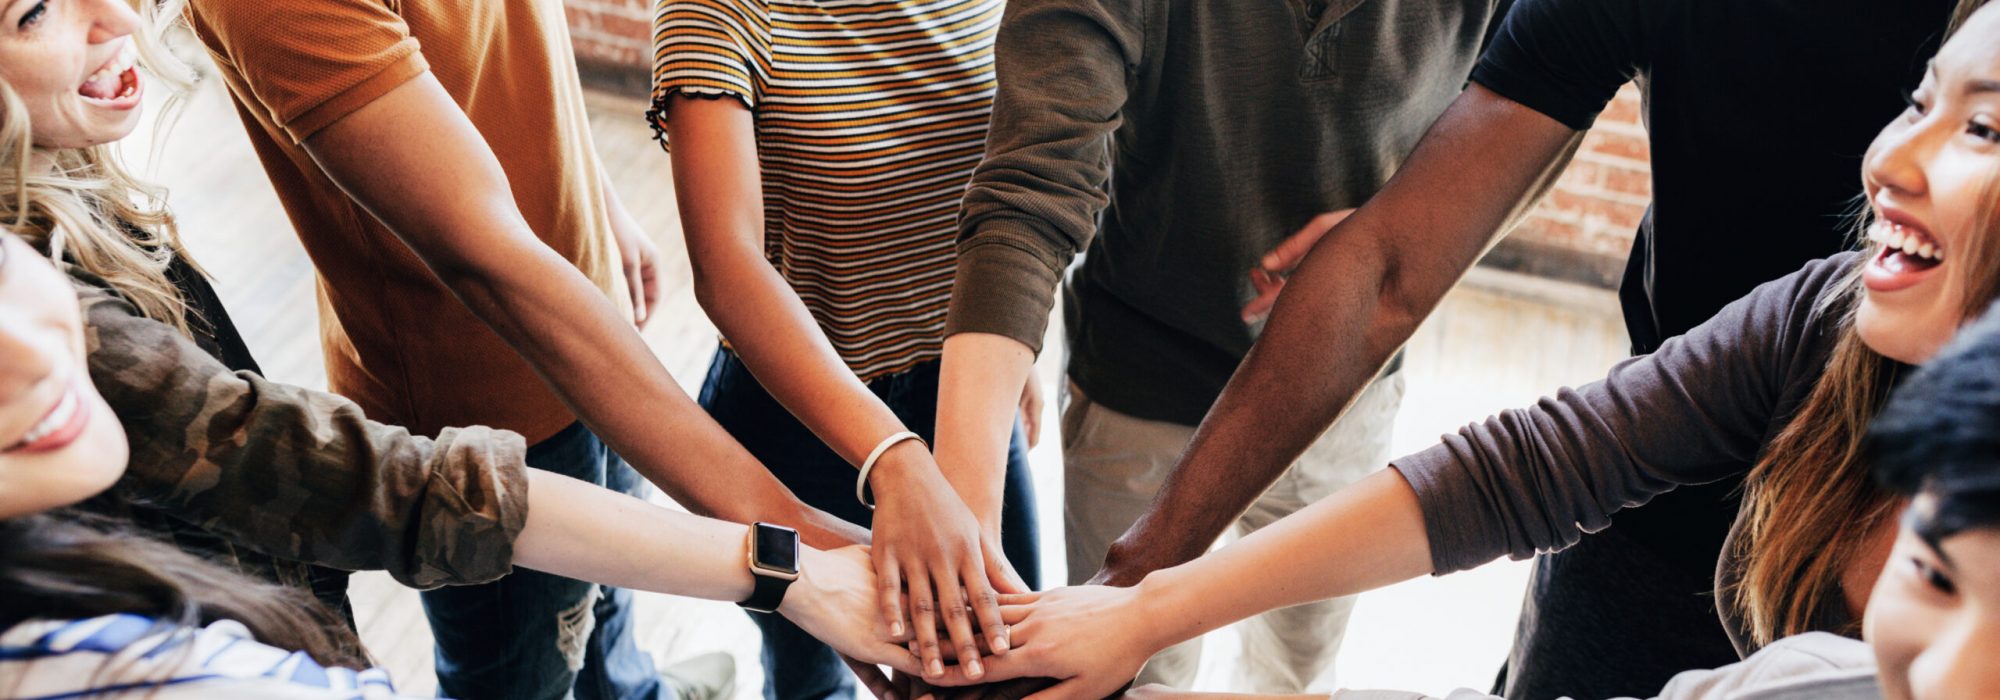
M 946 478 L 988 532 L 1000 524 L 1008 440 L 1056 284 L 1110 202 L 1126 70 L 1148 50 L 1144 6 L 1018 0 L 1000 22 L 986 158 L 960 214 L 936 444 Z

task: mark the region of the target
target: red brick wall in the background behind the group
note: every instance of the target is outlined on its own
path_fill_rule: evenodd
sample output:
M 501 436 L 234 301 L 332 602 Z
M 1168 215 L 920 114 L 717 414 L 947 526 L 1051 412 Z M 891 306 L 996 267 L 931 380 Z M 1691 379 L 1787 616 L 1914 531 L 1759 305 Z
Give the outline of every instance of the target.
M 564 0 L 578 66 L 594 84 L 646 94 L 652 0 Z M 1638 90 L 1626 86 L 1584 138 L 1570 170 L 1488 264 L 1616 286 L 1652 180 Z

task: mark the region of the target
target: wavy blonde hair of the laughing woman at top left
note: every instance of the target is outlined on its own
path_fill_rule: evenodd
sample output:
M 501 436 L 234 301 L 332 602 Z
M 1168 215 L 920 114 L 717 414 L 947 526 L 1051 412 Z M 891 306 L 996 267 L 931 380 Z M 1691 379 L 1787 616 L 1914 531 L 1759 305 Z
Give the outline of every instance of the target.
M 158 8 L 136 2 L 144 22 L 132 36 L 140 66 L 172 88 L 186 70 L 160 42 Z M 164 68 L 164 70 L 162 70 Z M 176 72 L 178 70 L 178 72 Z M 174 256 L 186 258 L 166 190 L 132 176 L 114 146 L 40 148 L 26 102 L 0 78 L 0 226 L 54 260 L 104 278 L 146 318 L 188 332 L 188 310 L 168 280 Z M 192 260 L 188 260 L 192 266 Z

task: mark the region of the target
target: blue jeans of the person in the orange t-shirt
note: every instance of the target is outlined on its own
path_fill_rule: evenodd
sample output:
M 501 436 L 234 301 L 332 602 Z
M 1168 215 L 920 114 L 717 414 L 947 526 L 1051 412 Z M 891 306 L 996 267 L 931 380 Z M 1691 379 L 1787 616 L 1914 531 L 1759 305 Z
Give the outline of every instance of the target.
M 644 496 L 648 484 L 582 424 L 528 446 L 528 466 Z M 516 568 L 424 592 L 448 698 L 672 698 L 632 642 L 632 592 Z

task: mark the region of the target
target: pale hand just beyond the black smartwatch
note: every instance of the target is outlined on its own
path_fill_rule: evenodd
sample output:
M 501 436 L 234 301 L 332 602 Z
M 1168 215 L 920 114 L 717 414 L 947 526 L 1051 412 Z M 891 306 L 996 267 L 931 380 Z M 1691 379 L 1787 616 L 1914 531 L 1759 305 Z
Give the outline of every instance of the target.
M 914 674 L 916 656 L 902 646 L 904 638 L 882 630 L 874 584 L 868 548 L 848 546 L 832 552 L 802 548 L 798 582 L 786 590 L 778 614 L 844 658 Z

